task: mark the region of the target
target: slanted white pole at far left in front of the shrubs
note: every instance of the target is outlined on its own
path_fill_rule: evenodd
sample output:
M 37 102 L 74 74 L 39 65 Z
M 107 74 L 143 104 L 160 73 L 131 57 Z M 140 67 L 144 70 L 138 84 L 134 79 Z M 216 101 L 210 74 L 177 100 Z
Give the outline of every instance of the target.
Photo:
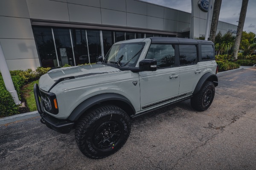
M 12 77 L 9 71 L 9 68 L 6 63 L 6 59 L 3 54 L 3 49 L 0 43 L 0 71 L 3 77 L 3 82 L 6 86 L 6 90 L 10 92 L 12 95 L 12 98 L 15 102 L 16 105 L 20 105 L 20 100 L 17 94 L 17 91 L 14 88 L 13 82 L 12 82 Z

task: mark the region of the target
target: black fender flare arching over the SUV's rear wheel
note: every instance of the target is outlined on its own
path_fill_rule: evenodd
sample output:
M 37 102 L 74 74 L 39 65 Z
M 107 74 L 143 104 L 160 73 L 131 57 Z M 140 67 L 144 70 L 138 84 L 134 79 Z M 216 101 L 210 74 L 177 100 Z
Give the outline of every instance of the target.
M 195 86 L 193 94 L 197 94 L 206 81 L 213 82 L 215 87 L 218 86 L 218 77 L 215 74 L 206 73 L 199 79 L 198 84 Z

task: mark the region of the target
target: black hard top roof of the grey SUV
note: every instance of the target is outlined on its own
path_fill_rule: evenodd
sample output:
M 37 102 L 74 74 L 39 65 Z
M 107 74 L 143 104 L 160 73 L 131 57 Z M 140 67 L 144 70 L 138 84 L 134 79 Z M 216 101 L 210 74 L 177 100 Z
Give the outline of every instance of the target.
M 198 42 L 204 43 L 213 43 L 212 41 L 206 40 L 195 40 L 189 38 L 176 38 L 176 37 L 149 37 L 151 39 L 151 43 L 174 43 L 174 44 L 198 44 Z

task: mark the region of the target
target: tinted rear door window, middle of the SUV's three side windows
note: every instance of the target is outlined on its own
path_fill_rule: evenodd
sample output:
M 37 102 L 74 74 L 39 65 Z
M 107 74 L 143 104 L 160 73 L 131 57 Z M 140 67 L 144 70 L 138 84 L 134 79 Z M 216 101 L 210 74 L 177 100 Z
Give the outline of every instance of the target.
M 180 65 L 195 64 L 198 62 L 197 45 L 179 45 Z

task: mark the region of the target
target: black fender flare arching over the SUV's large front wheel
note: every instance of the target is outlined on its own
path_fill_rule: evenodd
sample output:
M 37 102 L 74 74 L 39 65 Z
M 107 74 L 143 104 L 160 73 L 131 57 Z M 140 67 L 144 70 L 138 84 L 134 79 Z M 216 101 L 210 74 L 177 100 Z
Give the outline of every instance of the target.
M 87 111 L 87 109 L 91 108 L 93 105 L 96 105 L 100 102 L 105 102 L 105 101 L 113 101 L 113 100 L 118 100 L 118 101 L 122 101 L 125 102 L 126 104 L 128 104 L 131 109 L 134 111 L 135 113 L 135 109 L 133 107 L 133 105 L 131 104 L 131 102 L 125 97 L 122 96 L 121 94 L 115 94 L 115 93 L 105 93 L 105 94 L 98 94 L 96 96 L 92 96 L 89 99 L 84 100 L 83 102 L 81 102 L 70 114 L 70 116 L 68 117 L 68 119 L 70 121 L 77 121 L 79 119 L 79 117 L 85 112 Z

